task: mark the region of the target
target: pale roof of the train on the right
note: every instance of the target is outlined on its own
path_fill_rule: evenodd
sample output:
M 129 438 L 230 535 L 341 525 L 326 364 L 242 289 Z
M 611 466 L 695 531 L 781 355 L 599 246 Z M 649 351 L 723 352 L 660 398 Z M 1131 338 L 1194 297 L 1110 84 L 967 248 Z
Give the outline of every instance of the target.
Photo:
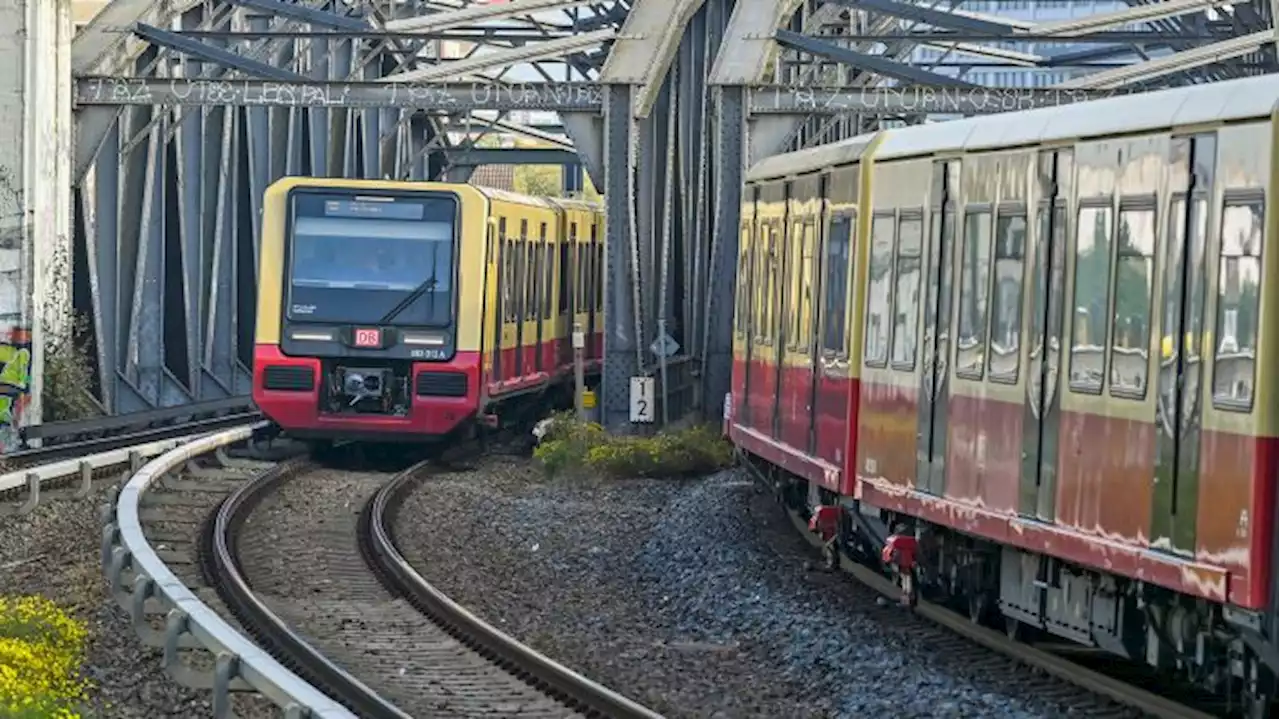
M 883 130 L 877 159 L 1038 145 L 1161 128 L 1262 118 L 1280 100 L 1280 74 L 1038 107 Z M 756 162 L 748 180 L 824 170 L 861 159 L 876 134 L 776 155 Z

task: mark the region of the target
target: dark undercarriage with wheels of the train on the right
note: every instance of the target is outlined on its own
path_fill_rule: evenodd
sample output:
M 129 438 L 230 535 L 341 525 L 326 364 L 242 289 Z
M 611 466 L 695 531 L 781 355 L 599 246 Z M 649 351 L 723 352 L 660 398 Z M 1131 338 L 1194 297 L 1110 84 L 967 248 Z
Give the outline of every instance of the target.
M 828 567 L 844 555 L 887 572 L 881 548 L 891 527 L 905 526 L 919 541 L 922 600 L 966 614 L 1012 640 L 1068 640 L 1146 665 L 1158 677 L 1153 681 L 1175 681 L 1188 693 L 1212 695 L 1224 715 L 1280 716 L 1280 652 L 1266 638 L 1258 613 L 860 505 L 758 457 L 749 455 L 745 463 L 780 503 L 806 519 L 819 508 L 838 508 Z

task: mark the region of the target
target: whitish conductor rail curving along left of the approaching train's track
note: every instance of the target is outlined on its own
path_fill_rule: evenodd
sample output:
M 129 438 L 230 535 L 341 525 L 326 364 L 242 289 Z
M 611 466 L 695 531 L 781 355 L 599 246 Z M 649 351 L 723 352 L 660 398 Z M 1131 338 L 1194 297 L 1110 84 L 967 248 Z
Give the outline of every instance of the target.
M 268 423 L 261 422 L 183 441 L 134 472 L 116 500 L 108 507 L 102 531 L 104 569 L 113 596 L 132 614 L 143 641 L 152 635 L 163 635 L 159 644 L 164 647 L 165 668 L 179 683 L 192 679 L 192 669 L 183 665 L 179 650 L 202 647 L 214 654 L 211 679 L 201 678 L 188 686 L 214 691 L 215 716 L 229 715 L 232 691 L 250 688 L 284 709 L 287 719 L 353 719 L 353 714 L 276 661 L 202 603 L 165 565 L 143 533 L 142 496 L 155 482 L 202 454 L 216 453 L 221 458 L 225 446 L 247 440 L 266 427 Z M 160 606 L 156 608 L 156 604 Z M 166 613 L 164 632 L 155 632 L 147 622 L 146 615 L 156 610 Z

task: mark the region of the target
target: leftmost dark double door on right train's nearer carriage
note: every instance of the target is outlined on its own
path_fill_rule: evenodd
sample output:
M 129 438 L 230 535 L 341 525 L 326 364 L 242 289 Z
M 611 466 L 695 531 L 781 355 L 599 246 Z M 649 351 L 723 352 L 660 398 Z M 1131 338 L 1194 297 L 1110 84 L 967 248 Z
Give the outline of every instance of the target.
M 951 283 L 956 244 L 959 161 L 933 164 L 929 237 L 924 243 L 924 336 L 916 416 L 915 486 L 941 495 L 946 489 L 947 358 L 951 356 Z

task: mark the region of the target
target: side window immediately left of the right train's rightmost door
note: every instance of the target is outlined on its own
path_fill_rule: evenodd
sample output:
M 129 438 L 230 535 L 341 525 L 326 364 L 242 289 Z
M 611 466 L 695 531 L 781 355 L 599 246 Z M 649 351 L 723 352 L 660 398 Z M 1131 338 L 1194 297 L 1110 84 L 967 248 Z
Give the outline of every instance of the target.
M 1151 298 L 1156 284 L 1156 210 L 1120 207 L 1115 310 L 1111 315 L 1111 394 L 1147 395 Z

